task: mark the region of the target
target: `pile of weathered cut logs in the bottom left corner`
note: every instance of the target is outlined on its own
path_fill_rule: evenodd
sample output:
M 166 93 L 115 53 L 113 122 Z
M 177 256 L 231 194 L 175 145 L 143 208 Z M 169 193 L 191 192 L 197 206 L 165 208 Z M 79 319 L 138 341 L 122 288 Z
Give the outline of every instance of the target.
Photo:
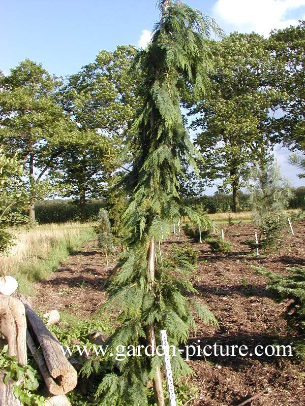
M 57 311 L 44 317 L 47 324 L 59 321 Z M 8 344 L 8 355 L 16 356 L 20 365 L 27 363 L 28 347 L 45 383 L 45 405 L 71 406 L 66 393 L 75 388 L 77 371 L 63 354 L 56 336 L 20 293 L 17 297 L 0 294 L 0 335 Z M 13 394 L 14 381 L 5 384 L 5 375 L 6 371 L 0 370 L 0 406 L 22 406 Z

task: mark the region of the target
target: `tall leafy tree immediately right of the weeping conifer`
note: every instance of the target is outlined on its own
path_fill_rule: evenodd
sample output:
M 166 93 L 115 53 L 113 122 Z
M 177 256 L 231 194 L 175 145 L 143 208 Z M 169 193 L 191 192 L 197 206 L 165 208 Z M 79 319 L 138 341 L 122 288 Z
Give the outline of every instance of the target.
M 202 131 L 196 141 L 204 158 L 200 175 L 224 179 L 220 189 L 232 191 L 234 212 L 239 211 L 238 192 L 246 184 L 251 164 L 266 163 L 277 142 L 269 112 L 277 109 L 281 92 L 268 83 L 272 58 L 266 45 L 254 33 L 211 41 L 215 72 L 210 75 L 209 92 L 191 110 L 199 115 L 192 128 Z

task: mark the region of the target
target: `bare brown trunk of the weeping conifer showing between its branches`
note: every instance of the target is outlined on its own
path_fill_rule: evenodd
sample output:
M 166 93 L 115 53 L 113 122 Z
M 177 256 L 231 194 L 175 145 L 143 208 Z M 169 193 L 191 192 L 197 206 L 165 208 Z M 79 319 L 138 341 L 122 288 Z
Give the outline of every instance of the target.
M 149 289 L 153 290 L 155 282 L 155 240 L 152 238 L 149 242 L 148 252 L 147 252 L 147 272 L 150 277 Z M 154 351 L 156 350 L 156 336 L 154 324 L 149 323 L 145 329 L 147 345 L 150 345 Z M 163 395 L 163 386 L 162 386 L 162 377 L 161 371 L 158 368 L 156 370 L 155 378 L 153 379 L 153 387 L 155 400 L 158 406 L 164 406 L 164 395 Z

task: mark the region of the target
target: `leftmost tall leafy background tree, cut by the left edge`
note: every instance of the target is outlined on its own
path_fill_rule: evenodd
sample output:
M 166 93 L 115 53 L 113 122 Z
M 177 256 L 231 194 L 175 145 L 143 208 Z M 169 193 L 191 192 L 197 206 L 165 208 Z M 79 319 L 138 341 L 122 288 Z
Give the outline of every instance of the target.
M 44 177 L 56 162 L 68 122 L 56 105 L 59 82 L 29 59 L 0 76 L 0 141 L 24 159 L 29 216 L 35 221 L 35 200 L 45 196 Z

